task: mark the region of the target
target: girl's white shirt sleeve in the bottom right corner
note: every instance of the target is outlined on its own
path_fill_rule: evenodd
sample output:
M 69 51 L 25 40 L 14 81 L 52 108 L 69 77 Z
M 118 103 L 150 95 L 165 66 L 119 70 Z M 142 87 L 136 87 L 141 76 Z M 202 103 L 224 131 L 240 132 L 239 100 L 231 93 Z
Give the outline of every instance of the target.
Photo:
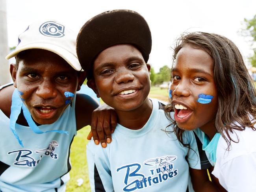
M 256 191 L 256 153 L 241 155 L 219 167 L 212 174 L 228 192 Z

